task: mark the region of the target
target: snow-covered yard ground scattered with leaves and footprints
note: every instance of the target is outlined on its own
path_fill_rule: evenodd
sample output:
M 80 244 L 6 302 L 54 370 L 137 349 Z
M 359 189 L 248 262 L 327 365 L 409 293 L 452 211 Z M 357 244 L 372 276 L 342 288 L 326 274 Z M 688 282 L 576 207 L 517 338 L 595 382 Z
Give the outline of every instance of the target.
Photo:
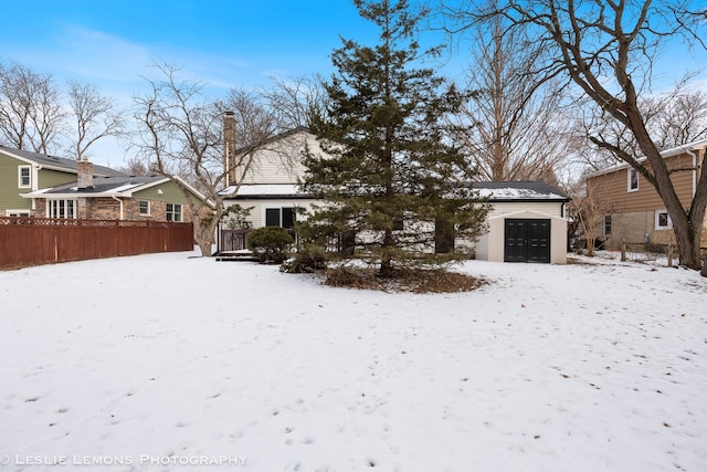
M 191 255 L 0 272 L 1 471 L 707 470 L 696 272 L 414 295 Z

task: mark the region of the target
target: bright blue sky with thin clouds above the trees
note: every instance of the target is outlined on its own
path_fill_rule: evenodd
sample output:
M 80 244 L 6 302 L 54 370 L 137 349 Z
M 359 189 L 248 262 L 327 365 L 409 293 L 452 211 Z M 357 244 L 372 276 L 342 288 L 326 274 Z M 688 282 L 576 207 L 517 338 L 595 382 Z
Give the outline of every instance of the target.
M 0 61 L 50 73 L 61 84 L 88 82 L 124 106 L 156 78 L 151 64 L 181 66 L 180 77 L 231 87 L 268 87 L 271 77 L 328 75 L 340 36 L 376 44 L 377 27 L 358 15 L 352 0 L 2 0 Z M 415 0 L 411 0 L 415 3 Z M 442 36 L 421 40 L 437 44 Z M 667 82 L 707 65 L 676 42 L 665 53 Z M 462 80 L 457 55 L 447 76 Z M 704 78 L 704 75 L 703 75 Z M 109 154 L 117 151 L 110 150 Z M 97 153 L 96 153 L 97 154 Z M 122 153 L 120 153 L 122 154 Z M 124 156 L 97 156 L 115 164 Z

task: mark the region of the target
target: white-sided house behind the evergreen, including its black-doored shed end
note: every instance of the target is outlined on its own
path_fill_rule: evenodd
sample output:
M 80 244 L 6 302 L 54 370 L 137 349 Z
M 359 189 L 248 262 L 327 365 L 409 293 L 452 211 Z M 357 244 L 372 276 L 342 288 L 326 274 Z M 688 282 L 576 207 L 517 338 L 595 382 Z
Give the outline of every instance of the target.
M 224 204 L 253 208 L 253 228 L 294 228 L 298 208 L 321 203 L 302 193 L 298 177 L 304 175 L 302 153 L 307 146 L 320 151 L 316 137 L 306 128 L 276 136 L 257 151 L 249 168 L 238 168 L 230 181 L 242 180 L 224 190 Z M 238 174 L 242 172 L 242 174 Z M 567 219 L 564 204 L 570 200 L 559 190 L 541 182 L 475 182 L 493 204 L 488 232 L 477 243 L 454 241 L 454 245 L 475 250 L 476 258 L 498 262 L 567 262 Z

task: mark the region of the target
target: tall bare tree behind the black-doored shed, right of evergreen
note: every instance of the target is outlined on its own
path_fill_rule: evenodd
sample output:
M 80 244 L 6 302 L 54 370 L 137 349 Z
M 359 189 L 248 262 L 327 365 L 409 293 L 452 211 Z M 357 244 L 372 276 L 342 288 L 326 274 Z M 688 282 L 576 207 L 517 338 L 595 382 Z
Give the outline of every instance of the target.
M 528 80 L 532 48 L 500 18 L 474 31 L 468 105 L 456 116 L 456 138 L 469 149 L 486 180 L 542 180 L 557 183 L 568 129 L 561 94 L 552 82 Z

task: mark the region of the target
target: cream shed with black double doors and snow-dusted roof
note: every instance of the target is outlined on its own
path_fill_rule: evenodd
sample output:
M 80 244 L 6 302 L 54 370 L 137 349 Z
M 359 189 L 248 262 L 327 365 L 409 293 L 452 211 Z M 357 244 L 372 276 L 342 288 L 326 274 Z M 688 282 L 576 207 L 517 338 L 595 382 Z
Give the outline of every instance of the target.
M 495 262 L 567 263 L 564 193 L 542 182 L 475 182 L 493 209 L 476 259 Z

